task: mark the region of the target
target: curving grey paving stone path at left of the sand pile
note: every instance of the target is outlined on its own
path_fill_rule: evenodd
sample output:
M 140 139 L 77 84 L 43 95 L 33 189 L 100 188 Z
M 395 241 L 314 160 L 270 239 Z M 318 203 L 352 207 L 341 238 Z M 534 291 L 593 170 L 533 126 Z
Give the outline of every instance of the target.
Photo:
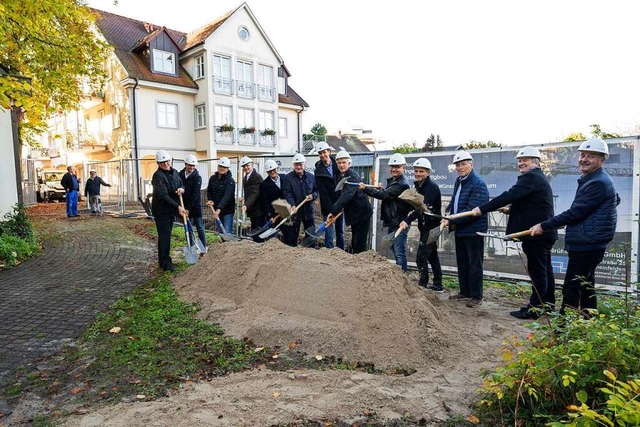
M 37 258 L 0 271 L 0 382 L 79 337 L 97 313 L 153 277 L 155 244 L 130 219 L 50 220 Z

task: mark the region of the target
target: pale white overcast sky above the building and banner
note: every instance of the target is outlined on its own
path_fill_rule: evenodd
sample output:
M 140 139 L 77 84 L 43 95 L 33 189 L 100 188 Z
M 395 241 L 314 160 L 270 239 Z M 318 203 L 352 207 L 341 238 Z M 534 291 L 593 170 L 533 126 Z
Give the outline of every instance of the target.
M 394 145 L 439 134 L 504 145 L 640 130 L 635 0 L 253 0 L 292 73 L 290 85 L 330 133 L 371 129 Z M 232 0 L 89 0 L 185 32 Z

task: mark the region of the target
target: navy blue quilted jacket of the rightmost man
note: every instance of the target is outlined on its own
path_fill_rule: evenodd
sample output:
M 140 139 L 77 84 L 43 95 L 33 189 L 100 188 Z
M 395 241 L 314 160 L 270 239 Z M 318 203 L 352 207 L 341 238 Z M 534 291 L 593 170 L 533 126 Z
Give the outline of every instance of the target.
M 613 180 L 600 168 L 578 179 L 576 196 L 568 210 L 540 225 L 543 230 L 566 225 L 564 247 L 567 251 L 605 249 L 616 232 L 619 203 Z

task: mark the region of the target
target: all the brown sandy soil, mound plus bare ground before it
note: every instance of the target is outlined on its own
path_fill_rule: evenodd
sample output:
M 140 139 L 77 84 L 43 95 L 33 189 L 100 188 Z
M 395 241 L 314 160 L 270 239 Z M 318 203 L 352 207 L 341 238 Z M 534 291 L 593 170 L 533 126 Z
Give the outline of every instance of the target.
M 528 330 L 508 315 L 515 304 L 486 300 L 470 309 L 418 288 L 413 278 L 371 252 L 289 248 L 276 240 L 215 245 L 175 286 L 227 333 L 415 373 L 256 369 L 154 402 L 74 416 L 67 425 L 354 423 L 372 414 L 383 422 L 435 422 L 466 414 L 481 371 L 499 362 L 502 340 Z

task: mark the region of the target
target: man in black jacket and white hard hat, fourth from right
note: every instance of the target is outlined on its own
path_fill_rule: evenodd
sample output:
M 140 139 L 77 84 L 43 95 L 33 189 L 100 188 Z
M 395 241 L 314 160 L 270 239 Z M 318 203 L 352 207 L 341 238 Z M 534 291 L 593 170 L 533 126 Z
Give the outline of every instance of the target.
M 421 157 L 413 162 L 414 186 L 418 193 L 422 194 L 424 204 L 431 212 L 442 215 L 442 197 L 438 184 L 431 181 L 431 162 L 425 157 Z M 416 254 L 416 265 L 420 271 L 418 285 L 434 292 L 442 293 L 442 267 L 438 258 L 438 243 L 427 243 L 429 231 L 440 225 L 440 220 L 432 216 L 425 215 L 419 209 L 415 209 L 400 223 L 400 227 L 405 229 L 413 221 L 418 220 L 418 230 L 420 230 L 420 243 Z M 429 264 L 433 270 L 433 284 L 429 285 Z

